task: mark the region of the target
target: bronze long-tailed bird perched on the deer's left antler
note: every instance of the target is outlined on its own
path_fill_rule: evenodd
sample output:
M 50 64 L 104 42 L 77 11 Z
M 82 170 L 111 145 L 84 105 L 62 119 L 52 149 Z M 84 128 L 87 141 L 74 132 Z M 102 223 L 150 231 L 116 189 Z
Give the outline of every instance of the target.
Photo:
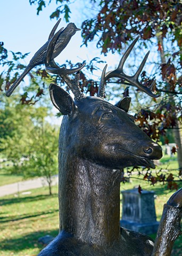
M 69 23 L 68 26 L 64 29 L 61 28 L 59 31 L 57 31 L 56 34 L 55 30 L 57 29 L 59 23 L 60 23 L 61 19 L 59 19 L 55 26 L 53 27 L 49 37 L 48 37 L 48 41 L 34 54 L 34 56 L 32 57 L 32 59 L 29 62 L 29 65 L 26 67 L 26 69 L 24 69 L 23 73 L 21 74 L 21 76 L 19 76 L 18 79 L 16 79 L 16 81 L 14 82 L 14 84 L 10 87 L 10 89 L 6 92 L 6 96 L 9 97 L 12 92 L 14 91 L 14 89 L 20 84 L 20 82 L 22 81 L 22 79 L 29 73 L 29 71 L 41 64 L 46 64 L 46 54 L 47 54 L 47 49 L 48 49 L 48 45 L 49 42 L 54 43 L 54 49 L 53 49 L 53 53 L 51 56 L 51 64 L 55 67 L 56 64 L 54 62 L 54 58 L 56 58 L 63 50 L 64 48 L 67 46 L 67 44 L 69 43 L 71 37 L 73 35 L 75 35 L 76 31 L 80 30 L 79 28 L 77 28 L 75 26 L 74 23 Z M 77 71 L 79 71 L 81 68 L 83 68 L 85 66 L 85 64 L 81 65 L 78 68 L 73 68 L 73 69 L 67 69 L 67 68 L 62 68 L 62 74 L 72 74 L 75 73 Z M 51 66 L 47 66 L 47 70 L 51 69 Z

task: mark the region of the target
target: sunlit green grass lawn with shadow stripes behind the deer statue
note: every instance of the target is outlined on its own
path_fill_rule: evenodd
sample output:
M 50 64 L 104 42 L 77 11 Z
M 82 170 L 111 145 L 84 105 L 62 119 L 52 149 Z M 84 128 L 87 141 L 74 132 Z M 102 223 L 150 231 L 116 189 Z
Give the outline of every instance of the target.
M 144 183 L 143 183 L 144 182 Z M 168 201 L 173 191 L 152 187 L 145 181 L 139 181 L 143 189 L 154 190 L 156 214 L 158 220 L 162 214 L 163 204 Z M 138 186 L 138 180 L 121 184 L 121 190 Z M 59 212 L 57 187 L 53 187 L 53 195 L 48 196 L 47 188 L 31 190 L 30 195 L 20 197 L 5 196 L 0 198 L 0 255 L 2 256 L 36 256 L 43 246 L 38 238 L 47 234 L 56 236 L 59 229 Z M 121 202 L 122 203 L 122 202 Z M 155 235 L 152 235 L 154 238 Z M 181 256 L 181 240 L 175 243 L 172 256 Z

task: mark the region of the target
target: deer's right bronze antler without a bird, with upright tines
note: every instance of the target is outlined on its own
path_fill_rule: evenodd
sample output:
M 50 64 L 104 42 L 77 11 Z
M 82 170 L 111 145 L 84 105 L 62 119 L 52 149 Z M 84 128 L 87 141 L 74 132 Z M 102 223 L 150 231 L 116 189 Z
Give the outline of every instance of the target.
M 150 53 L 150 51 L 147 52 L 147 54 L 145 55 L 142 63 L 140 64 L 138 70 L 136 71 L 135 75 L 133 76 L 128 76 L 124 73 L 123 71 L 123 66 L 125 64 L 126 59 L 128 58 L 128 55 L 130 54 L 131 50 L 133 49 L 134 45 L 136 44 L 137 40 L 138 40 L 139 36 L 137 38 L 135 38 L 135 40 L 133 41 L 133 43 L 131 43 L 131 45 L 128 47 L 128 49 L 126 50 L 125 54 L 123 54 L 123 57 L 121 58 L 118 68 L 113 70 L 113 71 L 109 71 L 105 74 L 105 70 L 106 70 L 106 66 L 103 69 L 103 73 L 102 73 L 102 78 L 101 78 L 101 82 L 100 82 L 100 87 L 98 90 L 98 96 L 103 97 L 104 96 L 104 87 L 105 87 L 105 81 L 109 78 L 112 77 L 118 77 L 118 78 L 122 78 L 125 79 L 126 81 L 128 81 L 131 85 L 136 86 L 139 90 L 147 93 L 148 95 L 150 95 L 151 97 L 157 98 L 160 96 L 160 94 L 153 94 L 153 86 L 155 83 L 155 80 L 153 81 L 153 83 L 149 86 L 146 87 L 144 85 L 142 85 L 139 81 L 138 81 L 138 77 L 145 65 L 145 62 L 148 58 L 148 54 Z

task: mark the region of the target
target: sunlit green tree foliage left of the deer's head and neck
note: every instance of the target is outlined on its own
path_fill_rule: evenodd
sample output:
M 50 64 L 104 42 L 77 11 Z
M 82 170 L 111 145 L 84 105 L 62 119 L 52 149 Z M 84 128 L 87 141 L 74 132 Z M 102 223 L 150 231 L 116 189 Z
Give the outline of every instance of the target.
M 46 121 L 49 109 L 22 105 L 19 96 L 2 99 L 0 108 L 0 153 L 9 164 L 6 170 L 24 178 L 44 177 L 52 194 L 57 174 L 59 129 Z

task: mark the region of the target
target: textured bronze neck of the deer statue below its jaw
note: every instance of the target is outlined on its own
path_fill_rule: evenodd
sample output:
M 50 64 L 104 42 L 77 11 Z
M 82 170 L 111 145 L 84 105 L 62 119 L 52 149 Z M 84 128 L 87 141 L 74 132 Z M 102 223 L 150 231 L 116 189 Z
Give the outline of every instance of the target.
M 60 229 L 110 246 L 120 237 L 120 171 L 73 156 L 60 166 Z

